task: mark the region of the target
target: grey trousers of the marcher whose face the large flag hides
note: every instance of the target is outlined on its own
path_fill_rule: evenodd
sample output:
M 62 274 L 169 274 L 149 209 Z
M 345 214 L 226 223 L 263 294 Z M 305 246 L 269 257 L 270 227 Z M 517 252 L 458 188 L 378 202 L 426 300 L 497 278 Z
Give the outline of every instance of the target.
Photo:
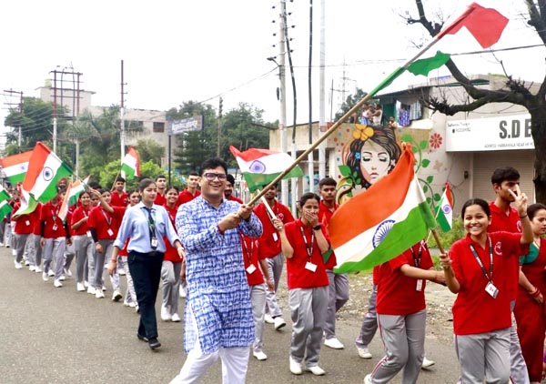
M 371 374 L 373 384 L 388 383 L 400 369 L 402 384 L 415 384 L 425 357 L 427 310 L 410 315 L 378 315 L 386 355 Z

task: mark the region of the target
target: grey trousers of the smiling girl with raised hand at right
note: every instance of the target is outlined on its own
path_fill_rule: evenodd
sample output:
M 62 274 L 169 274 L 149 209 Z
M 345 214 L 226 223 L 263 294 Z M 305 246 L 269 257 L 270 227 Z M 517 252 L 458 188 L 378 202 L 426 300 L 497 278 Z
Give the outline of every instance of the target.
M 506 384 L 510 380 L 510 328 L 455 335 L 455 351 L 464 384 Z M 514 381 L 518 383 L 518 381 Z

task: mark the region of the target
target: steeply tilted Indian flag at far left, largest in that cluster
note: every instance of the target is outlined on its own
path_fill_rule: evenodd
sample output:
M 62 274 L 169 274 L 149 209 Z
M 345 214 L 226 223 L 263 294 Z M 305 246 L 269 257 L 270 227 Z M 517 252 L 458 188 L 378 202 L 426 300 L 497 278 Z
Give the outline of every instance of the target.
M 70 175 L 72 175 L 72 169 L 38 141 L 28 161 L 23 189 L 28 191 L 31 198 L 45 203 L 56 197 L 57 182 Z

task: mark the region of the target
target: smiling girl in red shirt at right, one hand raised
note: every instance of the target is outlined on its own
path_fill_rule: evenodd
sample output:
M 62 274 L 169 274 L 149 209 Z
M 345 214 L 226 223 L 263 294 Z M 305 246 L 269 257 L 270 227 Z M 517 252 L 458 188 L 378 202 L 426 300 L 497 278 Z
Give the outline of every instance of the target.
M 527 197 L 519 186 L 511 194 L 521 217 L 522 235 L 488 234 L 490 206 L 472 198 L 461 211 L 467 237 L 451 246 L 449 256 L 440 255 L 448 288 L 457 294 L 453 330 L 461 382 L 510 380 L 511 258 L 526 254 L 533 239 Z

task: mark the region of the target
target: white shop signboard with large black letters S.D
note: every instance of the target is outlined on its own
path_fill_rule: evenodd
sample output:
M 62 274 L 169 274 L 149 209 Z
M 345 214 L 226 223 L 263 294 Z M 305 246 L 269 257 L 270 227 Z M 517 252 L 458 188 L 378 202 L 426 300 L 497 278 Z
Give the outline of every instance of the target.
M 500 151 L 534 149 L 531 115 L 448 120 L 446 151 Z

